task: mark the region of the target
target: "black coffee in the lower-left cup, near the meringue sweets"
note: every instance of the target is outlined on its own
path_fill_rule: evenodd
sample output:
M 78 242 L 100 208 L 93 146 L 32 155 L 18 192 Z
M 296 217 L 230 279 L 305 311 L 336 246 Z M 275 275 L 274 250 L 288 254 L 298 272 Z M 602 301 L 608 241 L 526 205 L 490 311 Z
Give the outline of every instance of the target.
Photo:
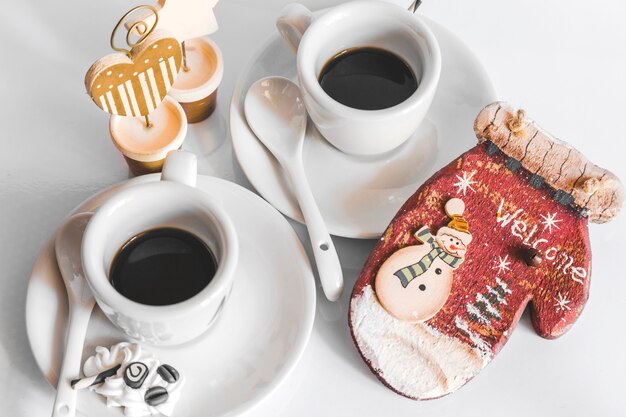
M 141 304 L 162 306 L 202 291 L 217 271 L 213 252 L 198 237 L 177 228 L 142 232 L 126 242 L 111 263 L 111 284 Z

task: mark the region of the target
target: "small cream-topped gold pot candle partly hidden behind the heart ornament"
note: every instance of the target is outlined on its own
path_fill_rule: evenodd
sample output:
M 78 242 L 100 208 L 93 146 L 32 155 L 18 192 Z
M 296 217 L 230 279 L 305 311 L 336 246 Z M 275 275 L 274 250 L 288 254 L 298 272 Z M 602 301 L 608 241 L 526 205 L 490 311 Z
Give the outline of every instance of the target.
M 217 87 L 224 75 L 222 52 L 208 38 L 189 39 L 184 43 L 185 63 L 169 95 L 178 101 L 189 123 L 200 122 L 213 113 Z

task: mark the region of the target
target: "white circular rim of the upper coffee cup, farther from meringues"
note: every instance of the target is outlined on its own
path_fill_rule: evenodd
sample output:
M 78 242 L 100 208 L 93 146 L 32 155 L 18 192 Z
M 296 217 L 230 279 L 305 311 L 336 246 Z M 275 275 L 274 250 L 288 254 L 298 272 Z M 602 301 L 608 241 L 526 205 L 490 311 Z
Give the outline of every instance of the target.
M 403 22 L 416 29 L 426 40 L 429 49 L 432 51 L 432 59 L 424 61 L 422 77 L 418 88 L 406 100 L 394 106 L 379 110 L 362 110 L 346 106 L 332 97 L 330 97 L 318 81 L 317 75 L 311 68 L 314 66 L 313 60 L 316 57 L 305 53 L 309 44 L 313 42 L 316 32 L 322 30 L 323 26 L 332 22 L 338 17 L 344 17 L 355 10 L 367 9 L 369 13 L 372 10 L 380 11 L 393 15 Z M 398 115 L 398 113 L 410 113 L 414 108 L 423 104 L 432 97 L 432 93 L 437 88 L 439 76 L 441 73 L 441 50 L 434 33 L 428 25 L 419 16 L 407 12 L 398 5 L 386 3 L 380 0 L 356 0 L 335 6 L 325 12 L 320 17 L 313 20 L 302 36 L 298 52 L 296 56 L 298 81 L 303 90 L 307 91 L 312 98 L 317 101 L 321 107 L 331 111 L 334 114 L 340 114 L 345 117 L 357 120 L 384 119 L 389 116 Z

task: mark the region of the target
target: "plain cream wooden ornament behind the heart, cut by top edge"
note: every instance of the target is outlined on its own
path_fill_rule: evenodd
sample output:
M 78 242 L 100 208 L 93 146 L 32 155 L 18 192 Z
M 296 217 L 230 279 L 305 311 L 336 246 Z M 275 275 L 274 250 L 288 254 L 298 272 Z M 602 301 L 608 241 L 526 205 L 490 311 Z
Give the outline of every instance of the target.
M 210 35 L 218 29 L 213 8 L 218 0 L 159 0 L 157 29 L 164 29 L 180 42 Z M 147 27 L 154 24 L 154 15 L 144 12 L 125 24 L 130 29 L 143 21 Z

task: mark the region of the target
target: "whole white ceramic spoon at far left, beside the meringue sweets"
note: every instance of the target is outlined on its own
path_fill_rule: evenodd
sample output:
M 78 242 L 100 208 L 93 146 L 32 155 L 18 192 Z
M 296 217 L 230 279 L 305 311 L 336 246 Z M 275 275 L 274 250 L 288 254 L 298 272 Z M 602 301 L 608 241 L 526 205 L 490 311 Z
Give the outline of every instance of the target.
M 76 390 L 70 382 L 78 378 L 85 334 L 94 306 L 94 298 L 83 275 L 80 245 L 91 213 L 76 214 L 68 218 L 57 232 L 54 242 L 57 263 L 67 289 L 69 321 L 65 339 L 65 355 L 57 383 L 52 417 L 76 415 Z

